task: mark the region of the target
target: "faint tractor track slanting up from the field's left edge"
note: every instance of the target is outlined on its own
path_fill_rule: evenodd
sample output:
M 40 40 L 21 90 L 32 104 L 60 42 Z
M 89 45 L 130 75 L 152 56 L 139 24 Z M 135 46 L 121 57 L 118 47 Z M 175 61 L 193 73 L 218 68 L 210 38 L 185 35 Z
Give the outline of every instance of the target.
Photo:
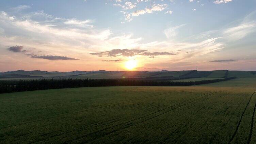
M 176 91 L 174 91 L 176 92 Z M 173 93 L 173 92 L 167 92 L 167 93 Z M 157 94 L 157 95 L 151 95 L 151 96 L 147 96 L 147 97 L 141 97 L 141 98 L 137 98 L 137 99 L 133 99 L 133 100 L 127 100 L 127 101 L 123 101 L 123 102 L 117 102 L 111 105 L 107 105 L 107 106 L 101 106 L 101 107 L 97 107 L 97 108 L 93 108 L 93 109 L 86 109 L 86 110 L 80 110 L 80 111 L 76 111 L 76 112 L 65 112 L 65 113 L 61 113 L 58 114 L 56 116 L 51 116 L 51 117 L 46 117 L 45 119 L 40 119 L 40 120 L 36 120 L 36 121 L 32 121 L 32 122 L 27 122 L 27 123 L 22 123 L 22 124 L 18 124 L 18 125 L 12 125 L 12 126 L 8 126 L 8 127 L 2 127 L 2 128 L 9 128 L 9 127 L 13 127 L 13 126 L 19 126 L 19 125 L 23 125 L 23 124 L 29 124 L 29 123 L 33 123 L 33 122 L 38 122 L 38 121 L 44 121 L 44 120 L 48 120 L 48 119 L 52 119 L 52 118 L 58 118 L 60 116 L 65 116 L 65 115 L 69 115 L 69 114 L 75 114 L 75 113 L 79 113 L 79 112 L 84 112 L 84 111 L 89 111 L 89 110 L 94 110 L 94 109 L 99 109 L 99 108 L 105 108 L 105 107 L 110 107 L 110 106 L 114 106 L 116 104 L 122 104 L 122 103 L 127 103 L 127 102 L 132 102 L 132 101 L 136 101 L 136 100 L 141 100 L 144 98 L 148 98 L 148 97 L 154 97 L 154 96 L 159 96 L 159 95 L 163 95 L 163 94 L 167 94 L 167 93 L 162 93 L 162 94 Z M 108 94 L 107 94 L 108 95 Z M 104 95 L 103 95 L 104 96 Z

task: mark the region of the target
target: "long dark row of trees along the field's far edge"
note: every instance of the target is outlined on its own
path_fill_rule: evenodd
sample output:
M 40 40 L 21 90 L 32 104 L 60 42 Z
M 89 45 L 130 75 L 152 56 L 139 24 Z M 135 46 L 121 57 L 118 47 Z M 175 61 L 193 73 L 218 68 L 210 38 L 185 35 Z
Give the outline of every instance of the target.
M 41 80 L 0 80 L 0 93 L 78 88 L 78 87 L 107 87 L 107 86 L 191 86 L 221 82 L 234 79 L 202 80 L 197 82 L 173 82 L 154 80 L 130 80 L 130 79 L 41 79 Z

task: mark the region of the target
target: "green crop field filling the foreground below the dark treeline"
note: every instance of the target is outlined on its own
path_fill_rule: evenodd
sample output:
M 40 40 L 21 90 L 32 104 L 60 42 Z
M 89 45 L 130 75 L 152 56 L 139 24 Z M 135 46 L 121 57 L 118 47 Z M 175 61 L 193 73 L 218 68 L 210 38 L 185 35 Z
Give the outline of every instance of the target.
M 0 143 L 255 143 L 256 79 L 0 94 Z

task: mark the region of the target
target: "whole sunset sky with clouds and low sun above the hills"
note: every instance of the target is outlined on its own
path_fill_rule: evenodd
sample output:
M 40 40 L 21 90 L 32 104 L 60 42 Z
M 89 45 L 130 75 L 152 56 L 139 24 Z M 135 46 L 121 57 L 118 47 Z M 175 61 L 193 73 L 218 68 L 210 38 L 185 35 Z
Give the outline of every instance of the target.
M 1 0 L 0 71 L 256 71 L 256 0 Z

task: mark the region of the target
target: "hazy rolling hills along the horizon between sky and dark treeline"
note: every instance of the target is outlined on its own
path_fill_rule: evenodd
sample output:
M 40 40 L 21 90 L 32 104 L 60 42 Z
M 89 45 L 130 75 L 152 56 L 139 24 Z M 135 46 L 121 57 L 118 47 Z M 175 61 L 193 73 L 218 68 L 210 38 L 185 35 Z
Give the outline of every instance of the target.
M 31 78 L 145 78 L 145 77 L 209 77 L 209 78 L 223 78 L 233 77 L 237 78 L 256 78 L 255 71 L 71 71 L 71 72 L 48 72 L 48 71 L 8 71 L 1 72 L 0 79 L 31 79 Z

